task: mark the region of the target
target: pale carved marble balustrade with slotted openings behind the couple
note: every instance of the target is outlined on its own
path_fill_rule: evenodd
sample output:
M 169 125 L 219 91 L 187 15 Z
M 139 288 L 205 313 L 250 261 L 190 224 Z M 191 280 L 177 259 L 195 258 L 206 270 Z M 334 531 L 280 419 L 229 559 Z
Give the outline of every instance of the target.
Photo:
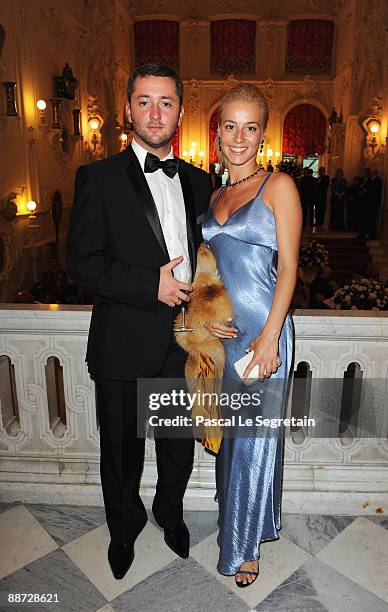
M 102 504 L 94 384 L 85 364 L 89 321 L 88 306 L 0 307 L 0 357 L 13 365 L 18 400 L 12 419 L 11 400 L 3 388 L 3 501 Z M 298 310 L 294 323 L 295 364 L 308 364 L 312 384 L 318 378 L 343 378 L 350 363 L 359 364 L 365 377 L 388 378 L 388 313 Z M 62 366 L 65 424 L 49 406 L 46 365 L 52 357 Z M 3 359 L 0 381 L 5 380 L 4 368 Z M 147 504 L 155 479 L 154 447 L 147 441 L 142 480 Z M 214 459 L 197 444 L 187 507 L 215 510 L 214 493 Z M 302 431 L 289 436 L 283 508 L 295 513 L 384 513 L 387 438 L 362 439 L 355 430 L 334 439 L 305 438 Z

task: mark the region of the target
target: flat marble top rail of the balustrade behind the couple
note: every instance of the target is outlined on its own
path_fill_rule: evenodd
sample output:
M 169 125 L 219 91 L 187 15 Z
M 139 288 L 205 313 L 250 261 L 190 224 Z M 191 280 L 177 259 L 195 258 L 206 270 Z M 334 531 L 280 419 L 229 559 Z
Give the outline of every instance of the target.
M 91 306 L 0 304 L 0 334 L 87 335 Z M 388 312 L 295 310 L 297 338 L 388 341 Z

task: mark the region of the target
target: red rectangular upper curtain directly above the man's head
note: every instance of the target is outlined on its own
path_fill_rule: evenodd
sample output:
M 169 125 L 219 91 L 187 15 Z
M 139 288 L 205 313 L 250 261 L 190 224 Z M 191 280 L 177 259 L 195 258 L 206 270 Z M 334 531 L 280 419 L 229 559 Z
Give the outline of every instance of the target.
M 136 21 L 134 33 L 136 66 L 158 63 L 179 70 L 178 21 Z

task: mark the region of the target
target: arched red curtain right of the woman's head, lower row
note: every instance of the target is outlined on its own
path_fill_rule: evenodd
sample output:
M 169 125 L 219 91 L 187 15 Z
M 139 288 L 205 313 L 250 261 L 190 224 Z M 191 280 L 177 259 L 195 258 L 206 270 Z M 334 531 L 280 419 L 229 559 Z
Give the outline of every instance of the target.
M 283 127 L 283 153 L 289 155 L 322 155 L 325 151 L 326 120 L 312 104 L 294 106 Z

